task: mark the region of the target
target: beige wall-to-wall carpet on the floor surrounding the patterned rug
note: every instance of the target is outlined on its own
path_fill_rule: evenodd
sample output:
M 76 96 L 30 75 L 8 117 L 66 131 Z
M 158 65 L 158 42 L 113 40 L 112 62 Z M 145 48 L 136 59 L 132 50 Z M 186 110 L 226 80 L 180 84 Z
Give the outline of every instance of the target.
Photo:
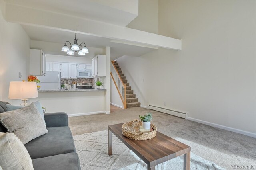
M 73 135 L 106 130 L 108 125 L 138 119 L 138 115 L 153 113 L 158 131 L 191 147 L 192 153 L 230 169 L 230 165 L 253 165 L 256 167 L 256 139 L 210 127 L 178 117 L 135 107 L 116 109 L 109 115 L 86 115 L 70 117 L 69 125 Z

